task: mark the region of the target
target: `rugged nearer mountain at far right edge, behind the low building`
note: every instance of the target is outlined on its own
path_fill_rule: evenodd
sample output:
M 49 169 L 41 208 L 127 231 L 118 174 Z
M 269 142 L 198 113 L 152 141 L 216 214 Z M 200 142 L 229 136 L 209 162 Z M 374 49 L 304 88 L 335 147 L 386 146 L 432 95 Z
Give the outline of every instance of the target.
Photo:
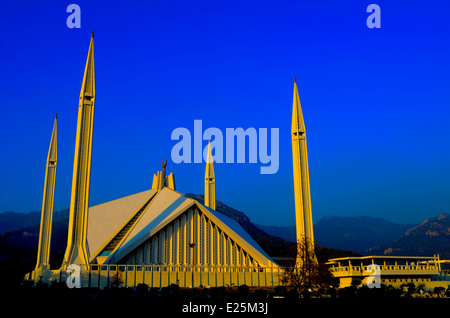
M 426 219 L 396 240 L 368 251 L 380 255 L 432 256 L 450 259 L 450 214 L 442 213 Z

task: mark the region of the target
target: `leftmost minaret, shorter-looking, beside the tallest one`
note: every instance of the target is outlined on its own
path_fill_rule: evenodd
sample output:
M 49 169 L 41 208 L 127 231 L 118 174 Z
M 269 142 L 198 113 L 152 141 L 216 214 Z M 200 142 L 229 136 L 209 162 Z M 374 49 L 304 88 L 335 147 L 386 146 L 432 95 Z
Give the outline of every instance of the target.
M 53 124 L 52 138 L 47 156 L 47 169 L 45 171 L 44 197 L 42 199 L 41 229 L 39 231 L 39 247 L 36 270 L 40 268 L 50 269 L 50 238 L 52 236 L 53 200 L 55 197 L 56 178 L 56 119 Z

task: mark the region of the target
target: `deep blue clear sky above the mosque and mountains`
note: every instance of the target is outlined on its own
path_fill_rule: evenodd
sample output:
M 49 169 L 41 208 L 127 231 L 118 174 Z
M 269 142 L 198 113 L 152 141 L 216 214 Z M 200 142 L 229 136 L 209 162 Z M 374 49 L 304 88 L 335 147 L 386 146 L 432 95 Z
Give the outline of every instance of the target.
M 69 29 L 66 8 L 81 8 Z M 366 8 L 381 8 L 369 29 Z M 151 187 L 178 127 L 279 128 L 280 167 L 216 164 L 216 197 L 253 222 L 294 222 L 296 76 L 313 219 L 399 223 L 450 213 L 450 4 L 446 1 L 0 2 L 0 211 L 38 211 L 58 113 L 55 210 L 70 202 L 78 97 L 95 29 L 90 205 Z M 206 142 L 205 142 L 206 145 Z

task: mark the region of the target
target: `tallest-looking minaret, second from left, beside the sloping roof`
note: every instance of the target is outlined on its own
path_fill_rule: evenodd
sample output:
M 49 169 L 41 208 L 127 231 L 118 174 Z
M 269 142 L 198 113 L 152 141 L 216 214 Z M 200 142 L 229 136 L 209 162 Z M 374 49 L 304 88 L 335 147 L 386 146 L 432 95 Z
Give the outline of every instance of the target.
M 88 265 L 87 218 L 91 174 L 92 133 L 94 128 L 95 72 L 94 31 L 84 70 L 78 105 L 77 135 L 70 199 L 69 235 L 64 265 Z

